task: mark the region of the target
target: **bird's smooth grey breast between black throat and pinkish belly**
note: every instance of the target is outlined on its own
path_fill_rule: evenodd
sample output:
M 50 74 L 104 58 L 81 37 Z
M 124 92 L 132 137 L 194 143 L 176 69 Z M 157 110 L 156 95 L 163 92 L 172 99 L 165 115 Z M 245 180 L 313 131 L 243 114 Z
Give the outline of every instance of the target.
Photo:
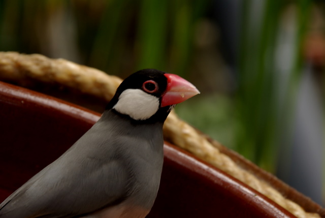
M 109 138 L 115 140 L 115 153 L 121 156 L 119 159 L 124 161 L 131 174 L 128 201 L 150 209 L 163 168 L 163 123 L 137 124 L 129 119 L 119 119 L 119 126 L 113 129 L 110 133 L 114 136 Z

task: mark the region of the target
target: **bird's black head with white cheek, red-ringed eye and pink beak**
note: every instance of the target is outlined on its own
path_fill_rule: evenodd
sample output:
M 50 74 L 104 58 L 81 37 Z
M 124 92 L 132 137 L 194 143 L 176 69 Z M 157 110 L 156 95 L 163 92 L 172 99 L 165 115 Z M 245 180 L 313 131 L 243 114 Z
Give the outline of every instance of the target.
M 106 109 L 134 120 L 164 122 L 175 104 L 199 93 L 191 83 L 177 75 L 145 69 L 120 84 Z

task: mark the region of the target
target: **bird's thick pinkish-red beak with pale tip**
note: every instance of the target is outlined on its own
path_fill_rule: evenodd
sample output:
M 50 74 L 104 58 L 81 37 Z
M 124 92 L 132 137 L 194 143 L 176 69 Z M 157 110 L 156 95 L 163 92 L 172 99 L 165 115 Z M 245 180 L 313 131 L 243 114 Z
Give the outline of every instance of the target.
M 200 91 L 190 82 L 175 74 L 164 74 L 167 77 L 167 89 L 163 98 L 161 98 L 160 107 L 175 105 L 181 103 Z

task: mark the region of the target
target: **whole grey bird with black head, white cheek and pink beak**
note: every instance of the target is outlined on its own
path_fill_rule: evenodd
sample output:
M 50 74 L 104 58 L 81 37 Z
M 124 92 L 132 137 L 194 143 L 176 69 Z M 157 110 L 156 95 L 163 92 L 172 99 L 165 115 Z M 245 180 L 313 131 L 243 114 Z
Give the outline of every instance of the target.
M 199 93 L 176 74 L 131 74 L 80 139 L 0 204 L 0 218 L 145 217 L 163 168 L 164 121 Z

